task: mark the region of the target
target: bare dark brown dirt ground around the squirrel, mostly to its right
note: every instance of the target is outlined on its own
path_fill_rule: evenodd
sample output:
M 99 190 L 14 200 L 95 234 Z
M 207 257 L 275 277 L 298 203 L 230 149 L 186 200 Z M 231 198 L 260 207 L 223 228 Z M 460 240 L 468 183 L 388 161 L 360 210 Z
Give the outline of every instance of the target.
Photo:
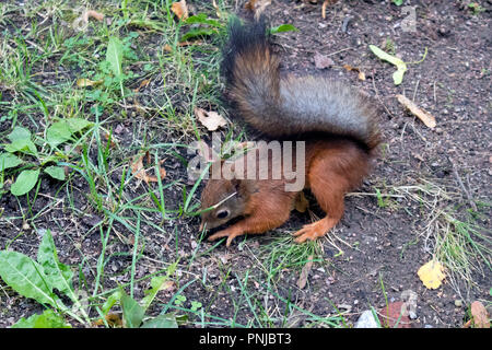
M 408 31 L 402 30 L 402 21 L 411 11 L 405 12 L 403 7 L 389 1 L 340 0 L 327 8 L 325 20 L 321 19 L 320 3 L 272 0 L 266 9 L 272 25 L 290 23 L 298 28 L 298 32 L 277 35 L 273 39 L 284 71 L 324 74 L 361 88 L 374 96 L 380 108 L 384 135 L 382 154 L 374 163 L 373 173 L 360 189 L 347 197 L 344 217 L 335 231 L 320 240 L 324 261 L 314 264 L 303 289 L 296 285 L 301 269 L 283 269 L 276 281 L 276 292 L 283 300 L 289 299 L 320 317 L 342 312 L 349 324 L 355 323 L 360 314 L 371 306 L 383 308 L 388 303 L 402 301 L 410 292 L 417 295 L 417 318 L 412 319 L 412 327 L 461 327 L 469 318 L 467 307 L 472 301 L 479 300 L 485 306 L 491 304 L 491 270 L 482 262 L 468 276 L 469 280 L 447 278 L 441 288 L 426 289 L 417 271 L 432 258 L 435 240 L 429 229 L 430 209 L 414 198 L 434 200 L 435 210 L 453 208 L 455 215 L 464 221 L 472 207 L 470 202 L 490 203 L 491 2 L 481 1 L 484 11 L 479 14 L 462 7 L 460 1 L 406 2 L 415 9 L 417 19 L 414 27 Z M 238 5 L 237 12 L 242 11 L 243 7 Z M 409 65 L 400 85 L 395 85 L 391 79 L 395 68 L 377 59 L 368 50 L 371 44 L 382 48 L 393 46 L 406 62 L 415 62 Z M 426 56 L 420 61 L 425 48 Z M 327 67 L 317 67 L 315 57 L 326 59 Z M 365 74 L 365 80 L 359 79 L 356 71 L 345 70 L 344 65 L 358 68 Z M 406 112 L 396 100 L 397 94 L 406 95 L 435 116 L 436 127 L 427 128 Z M 115 127 L 120 125 L 131 130 L 138 128 L 142 120 L 112 122 Z M 149 129 L 160 127 L 155 120 L 145 122 Z M 166 142 L 174 136 L 153 133 L 152 137 Z M 177 152 L 186 156 L 183 151 Z M 171 163 L 174 171 L 167 172 L 168 180 L 183 180 L 186 170 L 177 161 Z M 118 172 L 112 174 L 115 182 L 120 175 Z M 429 185 L 432 191 L 413 191 L 423 184 Z M 191 185 L 187 186 L 191 188 Z M 379 201 L 374 195 L 375 188 L 390 196 Z M 49 203 L 60 209 L 67 206 L 62 200 L 51 201 L 52 198 L 63 198 L 63 192 L 57 194 L 58 189 L 58 183 L 44 178 L 40 187 L 44 196 L 36 200 L 33 212 Z M 437 189 L 449 197 L 441 195 Z M 138 188 L 132 190 L 134 196 L 139 194 Z M 37 229 L 51 228 L 59 258 L 65 264 L 80 264 L 80 250 L 94 264 L 101 249 L 98 231 L 85 235 L 101 221 L 97 213 L 85 211 L 86 191 L 87 186 L 83 182 L 73 185 L 71 206 L 84 212 L 83 215 L 66 217 L 62 210 L 52 210 L 35 220 Z M 178 202 L 180 196 L 178 190 L 169 191 L 168 201 L 175 198 Z M 313 200 L 312 203 L 313 212 L 321 215 Z M 25 208 L 26 203 L 23 199 L 17 202 L 10 195 L 0 199 L 3 218 L 14 217 L 19 206 Z M 490 235 L 490 205 L 479 206 L 477 210 L 481 213 L 476 217 L 477 224 L 483 234 Z M 308 214 L 293 212 L 282 228 L 265 235 L 247 236 L 246 241 L 236 240 L 230 248 L 222 244 L 207 253 L 212 244 L 202 242 L 198 255 L 192 255 L 198 241 L 197 218 L 164 223 L 168 235 L 144 225 L 145 257 L 138 265 L 136 277 L 155 271 L 159 261 L 173 261 L 180 256 L 186 262 L 179 269 L 179 287 L 198 279 L 181 292 L 186 299 L 209 305 L 210 314 L 224 319 L 234 317 L 238 324 L 246 325 L 254 315 L 250 307 L 235 305 L 235 300 L 242 300 L 236 276 L 249 271 L 251 281 L 255 281 L 250 285 L 251 295 L 268 310 L 269 298 L 273 298 L 261 284 L 265 273 L 257 259 L 266 254 L 261 247 L 273 238 L 298 230 L 308 220 Z M 155 221 L 159 222 L 157 217 Z M 0 246 L 11 242 L 22 225 L 20 219 L 1 222 Z M 115 228 L 120 233 L 125 232 L 122 225 L 116 224 Z M 35 256 L 38 242 L 39 237 L 33 230 L 15 240 L 10 248 Z M 175 247 L 179 248 L 176 250 Z M 131 256 L 119 253 L 131 249 L 131 245 L 116 237 L 112 240 L 107 252 L 110 256 L 106 265 L 110 273 L 105 280 L 107 285 L 128 280 L 126 269 Z M 490 260 L 490 256 L 487 258 Z M 201 283 L 204 267 L 208 281 Z M 139 283 L 137 295 L 142 295 L 148 281 Z M 173 292 L 176 290 L 163 293 L 163 302 Z M 279 300 L 276 298 L 271 303 L 278 303 L 277 307 L 281 308 L 284 303 Z M 42 306 L 4 289 L 0 292 L 0 327 L 9 327 L 20 317 L 39 312 Z M 306 318 L 303 313 L 292 313 L 289 325 L 307 326 Z M 272 326 L 279 324 L 273 323 Z

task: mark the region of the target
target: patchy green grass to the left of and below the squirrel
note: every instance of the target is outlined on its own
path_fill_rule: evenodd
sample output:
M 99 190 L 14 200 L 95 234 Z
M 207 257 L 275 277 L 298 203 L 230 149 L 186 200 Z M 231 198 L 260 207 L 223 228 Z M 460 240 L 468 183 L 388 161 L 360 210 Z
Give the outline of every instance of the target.
M 195 120 L 195 107 L 226 115 L 220 101 L 219 44 L 225 34 L 229 4 L 218 4 L 221 18 L 209 2 L 197 5 L 203 14 L 195 18 L 191 26 L 175 19 L 171 1 L 96 1 L 91 9 L 106 19 L 90 19 L 83 31 L 73 26 L 82 3 L 0 4 L 0 138 L 15 127 L 26 128 L 38 153 L 13 152 L 24 168 L 54 165 L 66 174 L 63 180 L 51 183 L 55 188 L 49 195 L 42 186 L 46 182 L 42 172 L 32 190 L 14 197 L 17 213 L 2 213 L 1 219 L 5 223 L 21 220 L 23 228 L 0 241 L 1 249 L 22 248 L 21 238 L 35 248 L 37 240 L 31 232 L 45 232 L 47 220 L 50 222 L 56 238 L 69 243 L 78 257 L 71 270 L 83 306 L 73 313 L 58 310 L 71 325 L 91 326 L 101 319 L 102 325 L 110 326 L 105 317 L 116 312 L 125 326 L 132 326 L 128 316 L 136 316 L 130 312 L 134 306 L 131 300 L 142 303 L 142 290 L 172 266 L 181 271 L 169 273 L 176 288 L 168 299 L 156 294 L 144 322 L 172 313 L 178 324 L 278 327 L 301 313 L 312 326 L 339 324 L 279 293 L 280 270 L 300 271 L 315 254 L 315 244 L 295 245 L 291 238 L 272 242 L 265 247 L 269 250 L 266 259 L 258 260 L 261 275 L 221 266 L 219 285 L 210 284 L 207 269 L 199 275 L 196 269 L 199 261 L 213 256 L 220 243 L 203 248 L 203 237 L 198 236 L 197 246 L 184 253 L 188 238 L 177 222 L 186 223 L 198 214 L 201 178 L 188 186 L 186 174 L 173 174 L 168 166 L 186 167 L 188 144 L 204 136 Z M 197 33 L 206 36 L 195 37 Z M 183 38 L 191 45 L 180 45 Z M 50 126 L 73 118 L 91 125 L 60 143 L 46 143 Z M 243 137 L 232 128 L 225 132 L 226 140 Z M 164 160 L 164 179 L 147 185 L 132 173 L 133 160 L 145 152 L 151 156 L 150 173 L 157 172 Z M 0 196 L 10 196 L 11 184 L 22 170 L 1 172 Z M 81 231 L 81 220 L 93 220 L 93 224 Z M 91 254 L 94 248 L 87 250 L 87 242 L 97 246 L 97 255 Z M 163 253 L 164 245 L 168 250 Z M 28 254 L 30 248 L 24 248 Z M 288 249 L 286 256 L 282 249 Z M 115 261 L 121 265 L 116 270 Z M 151 271 L 142 275 L 139 271 L 145 266 L 151 266 Z M 267 289 L 257 291 L 255 284 L 263 279 Z M 209 296 L 192 296 L 196 288 Z M 265 293 L 273 308 L 265 305 Z M 232 305 L 227 316 L 216 304 L 224 295 Z

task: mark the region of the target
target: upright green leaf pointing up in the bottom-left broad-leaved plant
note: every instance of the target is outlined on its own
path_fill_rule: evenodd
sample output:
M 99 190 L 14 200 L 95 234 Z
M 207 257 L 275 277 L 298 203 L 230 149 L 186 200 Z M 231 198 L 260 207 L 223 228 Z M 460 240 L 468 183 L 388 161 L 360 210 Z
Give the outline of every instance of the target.
M 37 262 L 43 266 L 44 272 L 49 279 L 49 284 L 75 302 L 77 296 L 72 288 L 73 271 L 58 260 L 57 248 L 49 230 L 44 234 L 39 244 Z

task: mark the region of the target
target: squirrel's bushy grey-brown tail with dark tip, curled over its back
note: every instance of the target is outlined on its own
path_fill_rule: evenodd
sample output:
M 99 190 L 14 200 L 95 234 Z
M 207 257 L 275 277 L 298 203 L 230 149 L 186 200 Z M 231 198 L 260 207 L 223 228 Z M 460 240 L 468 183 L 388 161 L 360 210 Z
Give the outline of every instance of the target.
M 353 88 L 323 77 L 280 78 L 265 18 L 233 18 L 222 73 L 246 122 L 271 137 L 329 133 L 354 139 L 368 151 L 379 143 L 376 108 Z

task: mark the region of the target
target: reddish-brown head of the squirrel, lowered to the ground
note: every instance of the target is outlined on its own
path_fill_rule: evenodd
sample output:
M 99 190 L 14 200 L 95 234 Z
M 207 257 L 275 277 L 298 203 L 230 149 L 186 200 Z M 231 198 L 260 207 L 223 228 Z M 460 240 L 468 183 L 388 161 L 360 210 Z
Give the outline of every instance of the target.
M 231 219 L 241 217 L 245 210 L 241 179 L 210 179 L 201 194 L 200 231 L 218 228 Z

